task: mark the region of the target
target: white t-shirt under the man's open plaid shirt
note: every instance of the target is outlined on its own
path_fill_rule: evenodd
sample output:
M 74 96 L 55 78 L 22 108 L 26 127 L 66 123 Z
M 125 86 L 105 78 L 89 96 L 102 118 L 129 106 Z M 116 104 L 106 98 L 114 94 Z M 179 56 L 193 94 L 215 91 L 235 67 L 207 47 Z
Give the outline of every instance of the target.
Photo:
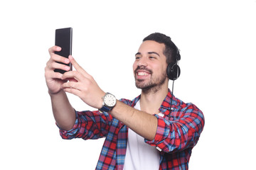
M 139 101 L 134 108 L 140 109 Z M 127 152 L 124 159 L 124 170 L 158 170 L 159 150 L 144 142 L 144 137 L 128 129 Z

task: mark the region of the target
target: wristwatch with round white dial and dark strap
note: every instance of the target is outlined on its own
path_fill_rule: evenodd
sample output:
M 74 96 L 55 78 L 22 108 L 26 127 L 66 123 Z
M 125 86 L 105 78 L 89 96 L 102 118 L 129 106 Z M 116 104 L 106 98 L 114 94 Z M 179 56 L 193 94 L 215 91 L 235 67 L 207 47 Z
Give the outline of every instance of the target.
M 106 93 L 105 96 L 102 97 L 102 108 L 99 110 L 102 112 L 109 112 L 114 108 L 117 103 L 117 98 L 110 93 Z

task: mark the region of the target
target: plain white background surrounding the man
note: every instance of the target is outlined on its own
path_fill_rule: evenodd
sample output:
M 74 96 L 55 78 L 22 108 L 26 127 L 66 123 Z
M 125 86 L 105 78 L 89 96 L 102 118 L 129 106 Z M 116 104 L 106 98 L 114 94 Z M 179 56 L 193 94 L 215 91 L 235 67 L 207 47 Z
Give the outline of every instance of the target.
M 0 18 L 0 169 L 95 169 L 104 140 L 62 140 L 51 113 L 44 67 L 65 27 L 75 59 L 117 98 L 140 93 L 132 63 L 142 39 L 171 36 L 181 50 L 174 94 L 206 118 L 190 169 L 256 169 L 255 0 L 1 1 Z

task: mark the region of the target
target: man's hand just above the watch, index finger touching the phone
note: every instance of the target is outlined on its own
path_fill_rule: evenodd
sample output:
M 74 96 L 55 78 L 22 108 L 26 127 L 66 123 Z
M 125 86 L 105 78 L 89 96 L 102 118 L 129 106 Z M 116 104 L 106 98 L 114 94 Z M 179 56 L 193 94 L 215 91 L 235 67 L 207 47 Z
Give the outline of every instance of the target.
M 62 85 L 63 90 L 80 97 L 82 101 L 93 108 L 102 108 L 102 96 L 105 95 L 105 92 L 100 89 L 95 79 L 75 62 L 71 55 L 68 59 L 76 71 L 65 72 L 63 74 L 63 80 L 73 79 L 73 81 L 65 82 Z

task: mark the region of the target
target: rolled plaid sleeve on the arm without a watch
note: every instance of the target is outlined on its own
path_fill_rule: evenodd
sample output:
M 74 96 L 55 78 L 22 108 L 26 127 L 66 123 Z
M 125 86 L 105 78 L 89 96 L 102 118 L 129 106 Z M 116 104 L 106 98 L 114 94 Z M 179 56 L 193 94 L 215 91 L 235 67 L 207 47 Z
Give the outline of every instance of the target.
M 75 125 L 71 130 L 62 130 L 60 136 L 65 140 L 73 138 L 98 139 L 105 137 L 110 129 L 112 116 L 100 111 L 75 111 Z

